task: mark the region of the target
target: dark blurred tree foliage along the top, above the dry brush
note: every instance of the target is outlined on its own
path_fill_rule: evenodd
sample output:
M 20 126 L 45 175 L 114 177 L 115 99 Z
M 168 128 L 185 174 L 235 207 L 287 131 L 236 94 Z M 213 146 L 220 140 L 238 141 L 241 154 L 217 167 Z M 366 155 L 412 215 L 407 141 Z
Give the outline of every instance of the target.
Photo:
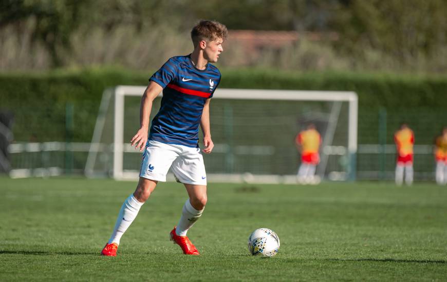
M 0 0 L 0 33 L 31 31 L 58 67 L 74 33 L 126 28 L 144 37 L 160 26 L 185 33 L 207 18 L 230 29 L 336 32 L 334 50 L 353 64 L 376 56 L 418 68 L 421 59 L 436 58 L 445 71 L 446 14 L 444 0 Z

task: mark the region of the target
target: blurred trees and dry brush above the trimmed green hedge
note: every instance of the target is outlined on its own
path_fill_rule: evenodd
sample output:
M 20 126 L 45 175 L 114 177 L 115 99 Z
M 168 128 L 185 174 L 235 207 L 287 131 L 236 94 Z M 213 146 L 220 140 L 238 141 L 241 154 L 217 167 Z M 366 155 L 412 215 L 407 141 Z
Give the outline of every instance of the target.
M 220 67 L 445 72 L 446 3 L 354 0 L 2 0 L 0 70 L 155 69 L 198 19 L 232 30 Z

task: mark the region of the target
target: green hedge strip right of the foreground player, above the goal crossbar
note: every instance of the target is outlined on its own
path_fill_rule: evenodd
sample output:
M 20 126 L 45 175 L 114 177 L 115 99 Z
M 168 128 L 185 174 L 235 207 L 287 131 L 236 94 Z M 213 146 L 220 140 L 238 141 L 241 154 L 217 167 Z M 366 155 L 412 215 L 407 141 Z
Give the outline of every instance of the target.
M 222 71 L 220 87 L 355 91 L 359 106 L 446 107 L 447 76 Z

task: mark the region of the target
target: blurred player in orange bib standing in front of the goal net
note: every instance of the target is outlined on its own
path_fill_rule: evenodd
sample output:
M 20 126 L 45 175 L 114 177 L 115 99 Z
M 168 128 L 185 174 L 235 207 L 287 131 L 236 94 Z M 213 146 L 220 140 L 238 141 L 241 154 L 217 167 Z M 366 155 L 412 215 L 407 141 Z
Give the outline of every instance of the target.
M 301 165 L 298 170 L 297 179 L 300 183 L 318 183 L 315 177 L 316 165 L 320 163 L 321 135 L 314 124 L 309 124 L 306 130 L 296 135 L 296 149 L 301 153 Z

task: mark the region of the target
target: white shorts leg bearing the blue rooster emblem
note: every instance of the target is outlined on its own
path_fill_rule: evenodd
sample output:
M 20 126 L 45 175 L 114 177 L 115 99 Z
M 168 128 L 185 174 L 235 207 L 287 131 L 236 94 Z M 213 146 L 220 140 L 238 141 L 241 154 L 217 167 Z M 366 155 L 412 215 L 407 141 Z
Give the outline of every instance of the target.
M 165 182 L 166 174 L 178 156 L 177 148 L 149 141 L 141 160 L 140 177 Z

